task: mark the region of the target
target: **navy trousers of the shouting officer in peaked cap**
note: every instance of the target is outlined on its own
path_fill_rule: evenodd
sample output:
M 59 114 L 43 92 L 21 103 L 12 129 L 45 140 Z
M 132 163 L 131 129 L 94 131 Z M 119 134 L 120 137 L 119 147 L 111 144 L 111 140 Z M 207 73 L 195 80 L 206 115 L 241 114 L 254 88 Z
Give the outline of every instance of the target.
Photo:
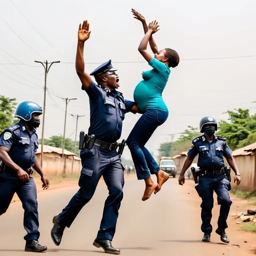
M 82 149 L 80 157 L 82 163 L 78 182 L 80 188 L 58 215 L 59 221 L 67 227 L 71 225 L 82 207 L 91 199 L 103 175 L 109 193 L 105 200 L 97 238 L 112 240 L 123 197 L 124 168 L 121 164 L 121 157 L 115 150 L 100 149 L 95 145 L 91 149 Z

